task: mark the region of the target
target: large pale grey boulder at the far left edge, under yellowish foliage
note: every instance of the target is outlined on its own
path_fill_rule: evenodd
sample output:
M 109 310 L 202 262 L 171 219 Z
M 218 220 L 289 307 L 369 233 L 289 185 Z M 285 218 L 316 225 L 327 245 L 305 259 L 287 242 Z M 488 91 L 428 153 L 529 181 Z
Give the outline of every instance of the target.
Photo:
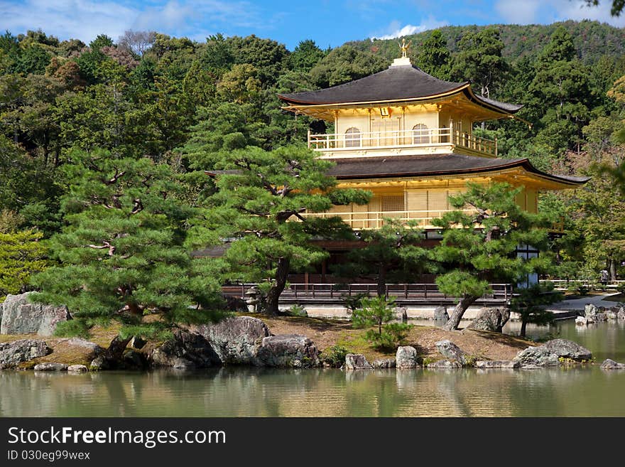
M 58 323 L 72 319 L 65 306 L 31 303 L 28 301 L 31 294 L 6 296 L 2 304 L 0 334 L 52 336 Z

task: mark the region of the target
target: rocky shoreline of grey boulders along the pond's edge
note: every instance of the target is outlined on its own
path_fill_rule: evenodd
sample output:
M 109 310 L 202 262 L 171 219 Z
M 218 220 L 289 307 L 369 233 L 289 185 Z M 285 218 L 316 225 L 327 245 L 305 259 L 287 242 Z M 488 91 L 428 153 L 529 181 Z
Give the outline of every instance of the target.
M 504 310 L 494 309 L 482 321 L 487 327 L 499 328 L 507 320 Z M 601 311 L 588 309 L 587 314 L 594 322 Z M 608 313 L 604 313 L 606 318 Z M 615 319 L 625 316 L 621 308 L 610 313 Z M 2 334 L 43 333 L 51 336 L 55 323 L 71 318 L 65 307 L 49 307 L 30 304 L 27 294 L 9 296 L 2 306 Z M 268 320 L 269 321 L 269 320 Z M 479 326 L 476 321 L 474 326 Z M 479 336 L 482 331 L 468 331 Z M 317 333 L 317 337 L 319 334 Z M 467 336 L 462 331 L 452 331 L 445 337 Z M 473 336 L 473 335 L 472 335 Z M 504 335 L 500 335 L 504 336 Z M 510 340 L 506 342 L 511 345 Z M 455 338 L 454 338 L 455 340 Z M 504 339 L 505 340 L 505 339 Z M 457 341 L 458 342 L 458 341 Z M 455 369 L 475 367 L 478 369 L 536 369 L 562 365 L 592 364 L 590 350 L 570 340 L 554 339 L 542 345 L 516 342 L 516 352 L 508 353 L 511 360 L 499 360 L 496 355 L 472 355 L 462 350 L 450 338 L 433 342 L 435 355 L 424 356 L 420 345 L 403 345 L 397 348 L 394 358 L 378 358 L 371 363 L 365 355 L 347 353 L 337 361 L 329 359 L 315 342 L 299 333 L 278 333 L 273 335 L 267 324 L 252 316 L 233 316 L 219 323 L 180 328 L 173 338 L 163 343 L 148 343 L 133 338 L 120 352 L 114 352 L 116 340 L 104 348 L 97 343 L 81 338 L 23 338 L 0 342 L 0 370 L 33 369 L 35 371 L 86 372 L 96 370 L 149 370 L 170 367 L 177 370 L 193 370 L 207 367 L 247 365 L 254 367 L 341 367 L 344 370 L 371 370 L 375 368 Z M 469 344 L 472 342 L 469 342 Z M 521 344 L 521 345 L 520 345 Z M 462 345 L 462 343 L 461 343 Z M 506 345 L 505 343 L 502 345 Z M 469 345 L 470 347 L 470 345 Z M 521 348 L 523 347 L 523 348 Z M 520 349 L 520 350 L 516 350 Z M 62 350 L 62 351 L 60 351 Z M 64 355 L 61 357 L 61 355 Z M 57 357 L 58 356 L 58 357 Z M 605 360 L 606 370 L 625 369 L 624 363 Z

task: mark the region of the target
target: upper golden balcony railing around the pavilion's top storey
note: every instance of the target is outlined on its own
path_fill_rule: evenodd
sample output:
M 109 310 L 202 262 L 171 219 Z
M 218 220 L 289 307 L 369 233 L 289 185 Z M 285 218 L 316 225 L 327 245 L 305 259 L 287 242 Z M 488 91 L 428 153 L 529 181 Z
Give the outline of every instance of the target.
M 362 151 L 364 149 L 448 148 L 462 149 L 497 156 L 497 141 L 474 136 L 449 128 L 409 129 L 396 131 L 346 132 L 334 134 L 311 134 L 308 147 L 315 151 Z

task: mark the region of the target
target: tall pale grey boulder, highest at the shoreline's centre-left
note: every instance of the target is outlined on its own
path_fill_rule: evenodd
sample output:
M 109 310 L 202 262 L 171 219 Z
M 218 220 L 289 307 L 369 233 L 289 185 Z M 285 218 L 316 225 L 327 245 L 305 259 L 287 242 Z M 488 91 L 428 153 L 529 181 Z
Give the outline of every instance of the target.
M 237 316 L 202 325 L 197 331 L 208 340 L 219 360 L 227 365 L 262 365 L 258 353 L 269 329 L 259 318 Z

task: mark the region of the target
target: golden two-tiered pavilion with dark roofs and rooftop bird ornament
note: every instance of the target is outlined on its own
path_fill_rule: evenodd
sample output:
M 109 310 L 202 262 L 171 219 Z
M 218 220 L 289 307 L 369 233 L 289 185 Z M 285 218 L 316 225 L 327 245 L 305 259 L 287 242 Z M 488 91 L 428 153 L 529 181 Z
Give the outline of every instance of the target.
M 332 134 L 308 133 L 308 146 L 336 166 L 328 175 L 339 188 L 374 195 L 368 205 L 336 206 L 356 230 L 381 226 L 383 218 L 417 220 L 434 234 L 431 220 L 450 209 L 448 196 L 467 182 L 505 181 L 522 186 L 518 204 L 535 213 L 538 192 L 575 188 L 587 178 L 539 171 L 528 159 L 501 159 L 497 141 L 473 133 L 485 120 L 516 118 L 521 105 L 473 92 L 469 82 L 439 80 L 406 56 L 388 69 L 343 85 L 279 95 L 283 109 L 322 119 Z M 318 214 L 316 214 L 318 215 Z

